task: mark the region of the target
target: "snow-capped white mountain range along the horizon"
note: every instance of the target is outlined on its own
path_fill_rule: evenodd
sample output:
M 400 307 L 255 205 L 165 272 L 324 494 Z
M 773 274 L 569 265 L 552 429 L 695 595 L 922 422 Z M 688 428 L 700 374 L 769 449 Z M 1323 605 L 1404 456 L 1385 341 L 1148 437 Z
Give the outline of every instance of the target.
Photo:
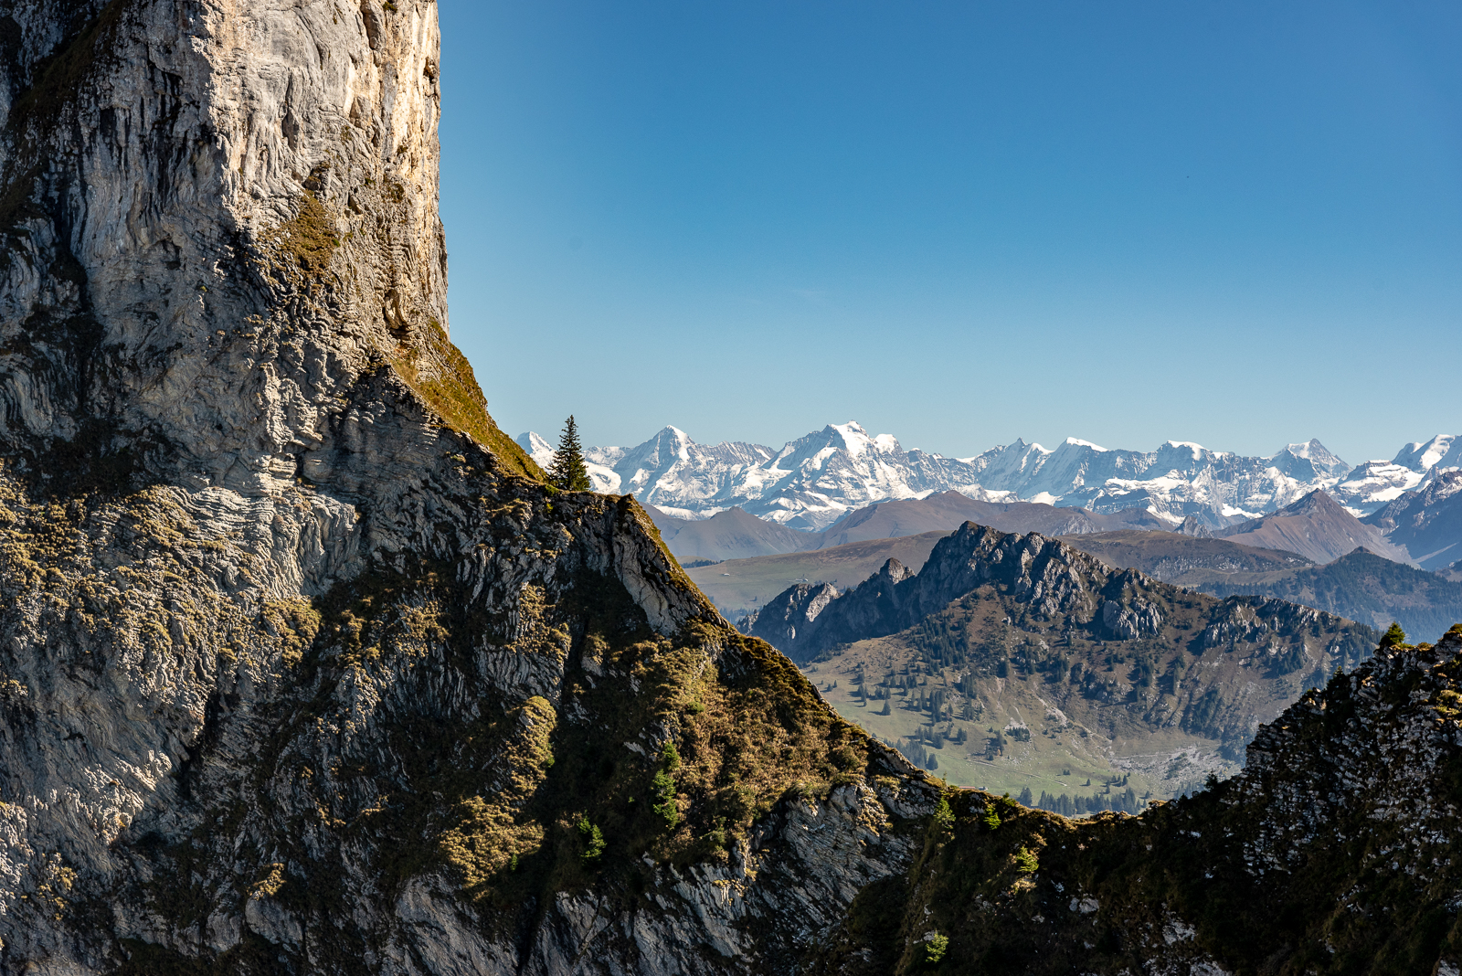
M 547 466 L 553 446 L 534 432 L 518 443 Z M 585 451 L 595 491 L 633 492 L 681 519 L 741 506 L 794 529 L 820 530 L 876 501 L 959 491 L 981 501 L 1044 501 L 1113 513 L 1140 507 L 1181 525 L 1219 527 L 1276 511 L 1322 488 L 1363 516 L 1462 468 L 1462 441 L 1439 434 L 1406 444 L 1390 462 L 1351 468 L 1317 440 L 1269 457 L 1167 441 L 1154 451 L 1108 450 L 1066 438 L 1054 450 L 1018 440 L 974 457 L 904 450 L 890 434 L 829 424 L 781 450 L 731 441 L 697 444 L 665 427 L 637 447 Z

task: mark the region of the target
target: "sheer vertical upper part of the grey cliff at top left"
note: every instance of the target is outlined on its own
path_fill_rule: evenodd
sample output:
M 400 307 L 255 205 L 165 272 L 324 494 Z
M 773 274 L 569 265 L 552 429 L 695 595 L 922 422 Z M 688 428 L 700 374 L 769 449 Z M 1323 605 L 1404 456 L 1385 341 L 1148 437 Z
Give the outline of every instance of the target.
M 0 396 L 20 453 L 64 441 L 95 469 L 126 447 L 269 491 L 319 463 L 361 374 L 447 368 L 434 4 L 7 13 Z

